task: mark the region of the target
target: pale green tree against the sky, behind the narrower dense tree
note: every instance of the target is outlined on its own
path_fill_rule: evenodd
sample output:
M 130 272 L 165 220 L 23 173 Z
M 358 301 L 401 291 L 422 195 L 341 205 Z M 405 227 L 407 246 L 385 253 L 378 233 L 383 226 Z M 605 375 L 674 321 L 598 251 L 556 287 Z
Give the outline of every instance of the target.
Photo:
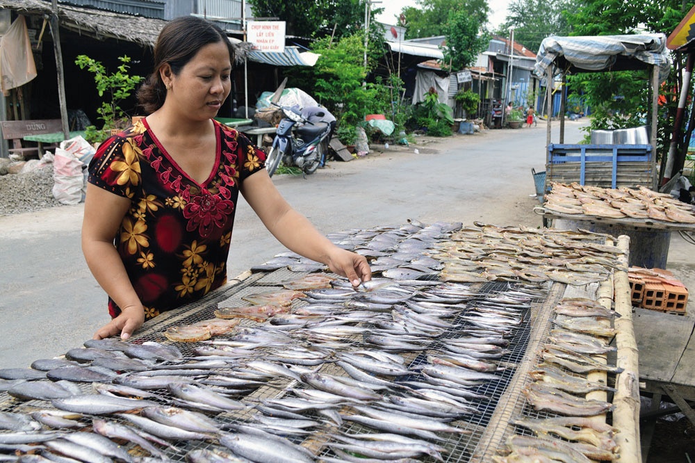
M 416 0 L 416 4 L 418 7 L 409 6 L 401 10 L 409 39 L 444 35 L 442 24 L 448 24 L 452 13 L 464 11 L 480 26 L 486 26 L 490 13 L 487 0 Z

